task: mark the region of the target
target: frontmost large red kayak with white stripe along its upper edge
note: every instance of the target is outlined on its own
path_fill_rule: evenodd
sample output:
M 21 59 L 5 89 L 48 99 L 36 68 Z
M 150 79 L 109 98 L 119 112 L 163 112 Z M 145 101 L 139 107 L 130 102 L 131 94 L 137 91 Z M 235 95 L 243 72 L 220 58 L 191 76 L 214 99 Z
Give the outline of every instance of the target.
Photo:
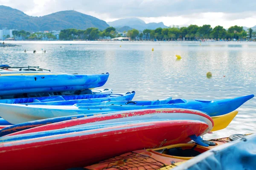
M 133 150 L 189 142 L 189 136 L 200 136 L 209 130 L 209 125 L 199 120 L 152 120 L 132 125 L 2 142 L 1 169 L 82 167 Z

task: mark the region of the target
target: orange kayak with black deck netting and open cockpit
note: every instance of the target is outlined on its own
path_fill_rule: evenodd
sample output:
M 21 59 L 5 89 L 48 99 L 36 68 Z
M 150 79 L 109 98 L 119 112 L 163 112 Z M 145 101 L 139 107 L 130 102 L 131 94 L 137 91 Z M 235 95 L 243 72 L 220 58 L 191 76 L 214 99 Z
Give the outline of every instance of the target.
M 157 170 L 166 169 L 166 166 L 168 166 L 169 169 L 172 169 L 207 150 L 241 137 L 244 137 L 244 135 L 236 134 L 221 139 L 211 139 L 206 141 L 210 145 L 209 147 L 203 147 L 196 143 L 184 143 L 137 150 L 84 168 L 88 170 Z

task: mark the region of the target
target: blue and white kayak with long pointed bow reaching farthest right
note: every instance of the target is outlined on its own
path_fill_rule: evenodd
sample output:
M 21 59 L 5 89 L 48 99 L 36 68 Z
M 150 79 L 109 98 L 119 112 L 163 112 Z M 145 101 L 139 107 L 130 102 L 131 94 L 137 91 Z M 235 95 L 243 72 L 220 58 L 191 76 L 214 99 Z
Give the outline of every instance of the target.
M 219 116 L 230 113 L 239 108 L 244 102 L 253 98 L 252 95 L 237 97 L 234 99 L 219 100 L 163 100 L 163 101 L 141 101 L 141 102 L 124 102 L 123 105 L 97 105 L 87 106 L 87 104 L 76 105 L 34 105 L 31 103 L 26 105 L 19 104 L 0 104 L 0 116 L 12 124 L 29 122 L 39 119 L 48 119 L 61 116 L 72 116 L 84 114 L 85 116 L 93 116 L 98 113 L 110 113 L 117 111 L 141 110 L 141 109 L 157 109 L 157 108 L 184 108 L 203 111 L 209 116 Z M 76 101 L 78 100 L 73 100 Z M 65 101 L 64 101 L 65 102 Z M 69 102 L 69 101 L 66 101 Z M 47 102 L 41 102 L 44 104 Z M 122 103 L 122 102 L 121 102 Z M 127 103 L 127 104 L 126 104 Z M 148 103 L 150 105 L 143 105 Z M 163 104 L 165 103 L 165 104 Z M 162 104 L 162 105 L 159 105 Z

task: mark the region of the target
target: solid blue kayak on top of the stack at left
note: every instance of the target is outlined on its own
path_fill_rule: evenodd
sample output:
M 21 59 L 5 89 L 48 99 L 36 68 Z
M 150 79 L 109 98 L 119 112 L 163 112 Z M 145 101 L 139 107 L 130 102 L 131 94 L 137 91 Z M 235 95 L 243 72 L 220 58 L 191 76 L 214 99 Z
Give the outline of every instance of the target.
M 3 74 L 0 75 L 0 96 L 97 88 L 103 86 L 108 77 L 109 74 L 79 75 L 50 72 L 40 75 L 40 71 L 35 75 Z

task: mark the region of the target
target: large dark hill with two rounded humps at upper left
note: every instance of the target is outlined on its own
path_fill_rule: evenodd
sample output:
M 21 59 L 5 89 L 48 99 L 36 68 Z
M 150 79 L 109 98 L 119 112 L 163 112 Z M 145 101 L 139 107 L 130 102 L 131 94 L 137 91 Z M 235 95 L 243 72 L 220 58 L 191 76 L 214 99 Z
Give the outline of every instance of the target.
M 104 30 L 109 27 L 105 21 L 77 11 L 60 11 L 43 17 L 31 17 L 8 6 L 0 6 L 0 11 L 0 28 L 7 27 L 32 32 L 67 28 L 84 30 L 90 27 Z

